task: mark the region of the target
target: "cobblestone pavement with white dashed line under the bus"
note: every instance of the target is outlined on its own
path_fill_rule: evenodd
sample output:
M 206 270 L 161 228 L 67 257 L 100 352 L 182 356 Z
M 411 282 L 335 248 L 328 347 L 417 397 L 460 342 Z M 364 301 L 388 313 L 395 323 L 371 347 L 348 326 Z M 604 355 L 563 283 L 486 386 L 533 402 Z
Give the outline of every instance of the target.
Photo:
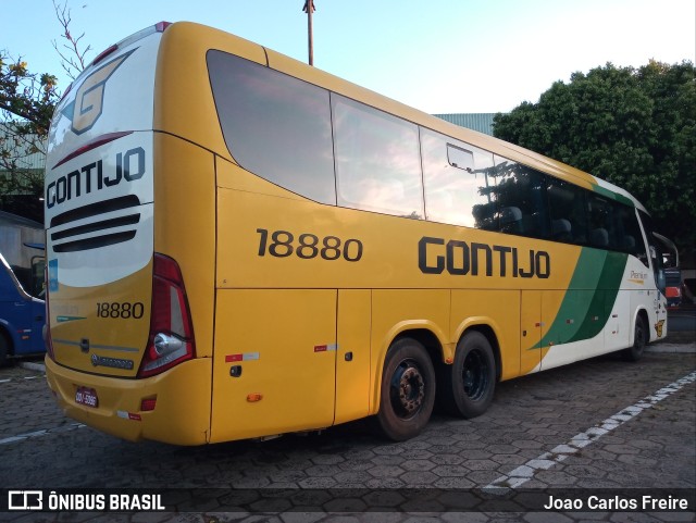
M 163 499 L 178 511 L 0 512 L 0 521 L 696 521 L 693 509 L 561 513 L 536 502 L 536 511 L 519 511 L 529 507 L 521 495 L 542 493 L 544 502 L 552 495 L 584 507 L 591 494 L 693 502 L 696 344 L 686 347 L 501 383 L 485 415 L 434 415 L 400 444 L 372 435 L 365 422 L 265 443 L 132 444 L 63 418 L 40 371 L 0 369 L 2 488 L 174 488 Z

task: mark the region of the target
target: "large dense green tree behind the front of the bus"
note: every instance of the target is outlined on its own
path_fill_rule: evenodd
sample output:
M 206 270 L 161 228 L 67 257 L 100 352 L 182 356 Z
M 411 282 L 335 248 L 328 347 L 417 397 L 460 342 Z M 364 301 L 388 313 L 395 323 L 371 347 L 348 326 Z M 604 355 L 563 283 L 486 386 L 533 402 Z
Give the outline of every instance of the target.
M 696 69 L 607 63 L 496 114 L 494 134 L 624 187 L 685 254 L 696 244 Z

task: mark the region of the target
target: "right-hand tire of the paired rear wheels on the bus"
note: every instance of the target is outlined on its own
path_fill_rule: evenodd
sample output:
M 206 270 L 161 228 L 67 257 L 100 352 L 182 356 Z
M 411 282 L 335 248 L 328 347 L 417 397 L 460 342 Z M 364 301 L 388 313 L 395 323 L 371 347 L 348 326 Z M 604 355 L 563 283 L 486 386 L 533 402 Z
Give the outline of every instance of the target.
M 448 414 L 476 418 L 490 406 L 496 388 L 496 360 L 488 338 L 471 331 L 457 344 L 455 361 L 442 365 L 438 407 Z

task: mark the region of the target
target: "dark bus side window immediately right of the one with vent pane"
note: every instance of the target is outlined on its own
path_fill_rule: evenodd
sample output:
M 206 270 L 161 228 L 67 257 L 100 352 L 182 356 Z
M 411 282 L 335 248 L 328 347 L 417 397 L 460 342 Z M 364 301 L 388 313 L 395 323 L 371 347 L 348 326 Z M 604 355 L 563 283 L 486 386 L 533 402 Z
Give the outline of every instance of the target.
M 501 233 L 548 238 L 550 226 L 546 176 L 520 163 L 495 157 Z

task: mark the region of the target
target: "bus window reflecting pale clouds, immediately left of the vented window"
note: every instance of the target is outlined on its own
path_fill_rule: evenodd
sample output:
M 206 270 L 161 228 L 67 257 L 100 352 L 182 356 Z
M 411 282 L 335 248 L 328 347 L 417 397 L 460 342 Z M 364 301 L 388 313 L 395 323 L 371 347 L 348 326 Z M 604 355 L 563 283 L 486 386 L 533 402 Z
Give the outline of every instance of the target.
M 418 127 L 332 94 L 338 204 L 422 220 Z

